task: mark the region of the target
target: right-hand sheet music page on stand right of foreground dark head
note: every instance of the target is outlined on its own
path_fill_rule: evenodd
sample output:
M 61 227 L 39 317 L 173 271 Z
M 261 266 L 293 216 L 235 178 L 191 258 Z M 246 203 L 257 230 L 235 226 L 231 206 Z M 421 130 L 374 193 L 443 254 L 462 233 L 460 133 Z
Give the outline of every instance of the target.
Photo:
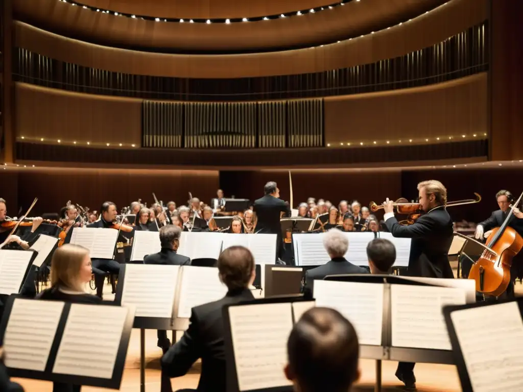
M 442 308 L 465 303 L 461 289 L 391 285 L 393 347 L 452 350 Z

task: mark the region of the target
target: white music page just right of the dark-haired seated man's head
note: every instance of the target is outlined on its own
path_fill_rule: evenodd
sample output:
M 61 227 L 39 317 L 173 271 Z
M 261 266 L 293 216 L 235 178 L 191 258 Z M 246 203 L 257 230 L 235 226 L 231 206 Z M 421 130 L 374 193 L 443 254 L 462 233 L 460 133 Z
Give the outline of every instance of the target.
M 224 233 L 181 232 L 178 254 L 194 259 L 218 259 Z

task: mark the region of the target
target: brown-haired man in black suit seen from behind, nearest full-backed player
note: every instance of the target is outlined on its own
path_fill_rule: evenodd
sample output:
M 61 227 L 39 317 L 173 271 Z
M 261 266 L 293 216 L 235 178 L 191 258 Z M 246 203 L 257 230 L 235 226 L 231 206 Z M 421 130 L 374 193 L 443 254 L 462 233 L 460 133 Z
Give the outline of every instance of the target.
M 225 249 L 218 258 L 218 273 L 228 293 L 219 301 L 192 308 L 189 329 L 162 357 L 162 372 L 169 377 L 185 375 L 201 358 L 200 392 L 225 392 L 222 308 L 254 299 L 248 289 L 256 276 L 251 251 L 242 246 Z

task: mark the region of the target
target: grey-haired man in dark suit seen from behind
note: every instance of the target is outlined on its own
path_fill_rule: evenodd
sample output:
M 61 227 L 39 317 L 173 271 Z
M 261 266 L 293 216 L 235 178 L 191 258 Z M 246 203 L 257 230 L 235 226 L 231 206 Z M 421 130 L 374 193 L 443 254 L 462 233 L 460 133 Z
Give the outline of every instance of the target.
M 345 253 L 347 253 L 349 248 L 349 240 L 341 230 L 336 228 L 328 230 L 323 237 L 323 246 L 331 260 L 323 264 L 323 266 L 305 272 L 303 285 L 303 293 L 305 295 L 312 296 L 314 280 L 322 280 L 327 275 L 369 273 L 365 268 L 355 266 L 345 259 Z

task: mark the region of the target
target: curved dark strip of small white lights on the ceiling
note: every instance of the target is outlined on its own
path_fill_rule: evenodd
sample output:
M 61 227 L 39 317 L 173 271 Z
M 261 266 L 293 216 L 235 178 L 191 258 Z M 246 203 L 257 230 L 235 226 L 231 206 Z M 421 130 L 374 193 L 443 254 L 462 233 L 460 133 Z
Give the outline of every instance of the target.
M 306 9 L 306 10 L 292 11 L 289 13 L 279 14 L 279 15 L 268 15 L 268 16 L 263 16 L 263 17 L 260 16 L 260 17 L 255 17 L 255 18 L 232 18 L 232 19 L 223 19 L 223 18 L 222 19 L 180 19 L 180 18 L 165 19 L 165 18 L 158 18 L 158 17 L 151 17 L 151 16 L 137 16 L 137 15 L 133 15 L 133 14 L 119 13 L 116 11 L 110 11 L 110 10 L 106 10 L 106 9 L 87 6 L 84 4 L 79 4 L 77 2 L 73 2 L 70 0 L 58 0 L 58 1 L 61 3 L 71 4 L 72 6 L 79 6 L 84 9 L 89 9 L 91 11 L 100 12 L 102 14 L 110 14 L 110 15 L 114 15 L 114 16 L 125 16 L 125 17 L 131 18 L 131 19 L 139 18 L 142 20 L 151 20 L 151 21 L 154 20 L 156 22 L 164 21 L 164 22 L 179 22 L 179 23 L 184 23 L 187 21 L 189 23 L 205 23 L 208 25 L 210 25 L 211 23 L 225 23 L 226 25 L 230 25 L 231 23 L 238 23 L 238 22 L 255 22 L 255 21 L 259 21 L 259 20 L 279 19 L 279 18 L 288 18 L 291 16 L 314 14 L 316 12 L 333 9 L 338 6 L 343 6 L 346 3 L 351 2 L 352 0 L 342 0 L 340 2 L 325 5 L 323 7 L 316 7 L 316 8 Z M 355 0 L 355 1 L 360 2 L 360 0 Z

